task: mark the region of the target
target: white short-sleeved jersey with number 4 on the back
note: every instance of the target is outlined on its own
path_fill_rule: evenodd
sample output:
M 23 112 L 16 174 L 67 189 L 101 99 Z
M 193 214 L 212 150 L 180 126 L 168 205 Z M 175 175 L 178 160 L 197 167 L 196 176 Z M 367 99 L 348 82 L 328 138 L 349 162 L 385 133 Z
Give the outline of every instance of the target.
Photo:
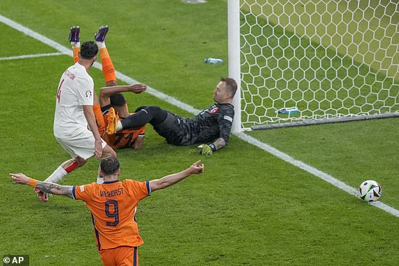
M 54 115 L 56 138 L 74 138 L 88 131 L 83 106 L 92 106 L 94 82 L 79 63 L 68 68 L 60 78 Z

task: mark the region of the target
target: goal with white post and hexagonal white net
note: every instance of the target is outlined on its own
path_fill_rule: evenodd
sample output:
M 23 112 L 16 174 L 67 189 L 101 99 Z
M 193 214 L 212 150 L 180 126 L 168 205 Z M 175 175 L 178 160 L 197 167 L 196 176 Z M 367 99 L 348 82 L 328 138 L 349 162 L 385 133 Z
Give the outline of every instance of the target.
M 399 116 L 396 0 L 228 0 L 233 132 Z

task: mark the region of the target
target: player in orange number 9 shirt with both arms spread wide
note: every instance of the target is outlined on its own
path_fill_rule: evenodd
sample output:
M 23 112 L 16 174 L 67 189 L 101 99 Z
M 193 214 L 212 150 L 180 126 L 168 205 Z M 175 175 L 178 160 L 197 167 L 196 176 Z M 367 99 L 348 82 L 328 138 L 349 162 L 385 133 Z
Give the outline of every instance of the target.
M 200 160 L 177 174 L 152 181 L 119 181 L 120 164 L 115 157 L 101 159 L 99 176 L 104 183 L 58 185 L 37 181 L 24 174 L 10 174 L 13 181 L 44 192 L 85 201 L 93 216 L 97 249 L 104 265 L 138 265 L 137 247 L 143 244 L 136 223 L 137 205 L 156 190 L 168 188 L 191 174 L 204 172 Z

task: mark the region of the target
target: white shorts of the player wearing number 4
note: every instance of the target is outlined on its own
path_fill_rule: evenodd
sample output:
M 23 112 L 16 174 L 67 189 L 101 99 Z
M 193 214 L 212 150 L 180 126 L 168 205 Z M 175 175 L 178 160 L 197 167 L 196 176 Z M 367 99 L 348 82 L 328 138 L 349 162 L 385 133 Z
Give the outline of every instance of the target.
M 84 133 L 74 136 L 72 138 L 57 138 L 58 143 L 70 153 L 72 158 L 81 157 L 85 160 L 95 155 L 95 136 L 92 131 L 85 131 Z M 102 147 L 106 147 L 106 142 L 102 140 Z

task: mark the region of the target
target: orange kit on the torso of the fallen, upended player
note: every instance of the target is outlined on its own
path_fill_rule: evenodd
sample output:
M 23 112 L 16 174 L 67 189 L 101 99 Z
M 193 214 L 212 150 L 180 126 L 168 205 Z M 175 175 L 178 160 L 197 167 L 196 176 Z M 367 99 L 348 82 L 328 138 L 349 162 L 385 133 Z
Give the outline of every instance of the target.
M 105 128 L 108 126 L 108 110 L 111 106 L 104 106 L 101 110 L 95 109 L 95 116 L 97 120 L 97 126 L 101 138 L 113 149 L 124 149 L 131 148 L 137 138 L 144 138 L 145 136 L 145 125 L 134 129 L 122 129 L 113 135 L 107 135 Z M 130 114 L 131 115 L 131 114 Z

